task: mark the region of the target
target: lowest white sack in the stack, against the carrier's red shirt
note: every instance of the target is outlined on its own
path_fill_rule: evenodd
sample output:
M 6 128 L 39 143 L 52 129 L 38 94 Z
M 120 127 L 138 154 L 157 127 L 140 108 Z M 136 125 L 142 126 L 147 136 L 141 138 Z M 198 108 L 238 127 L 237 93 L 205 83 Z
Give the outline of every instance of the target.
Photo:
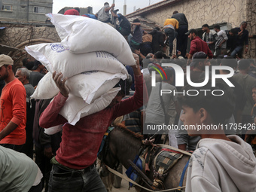
M 108 107 L 119 90 L 119 87 L 113 88 L 109 90 L 108 93 L 100 96 L 91 104 L 87 104 L 84 102 L 84 99 L 80 97 L 69 94 L 69 98 L 66 100 L 65 105 L 63 105 L 62 109 L 59 111 L 59 114 L 65 117 L 70 124 L 75 125 L 75 123 L 77 123 L 81 117 L 94 114 Z

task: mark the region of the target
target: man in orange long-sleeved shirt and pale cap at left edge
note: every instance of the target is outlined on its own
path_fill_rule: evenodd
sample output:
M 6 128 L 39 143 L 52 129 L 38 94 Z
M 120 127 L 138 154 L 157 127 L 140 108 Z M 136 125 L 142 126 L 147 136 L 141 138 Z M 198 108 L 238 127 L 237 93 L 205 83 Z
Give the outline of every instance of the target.
M 26 142 L 26 90 L 14 76 L 10 56 L 0 55 L 0 80 L 5 80 L 0 103 L 0 145 L 20 151 Z

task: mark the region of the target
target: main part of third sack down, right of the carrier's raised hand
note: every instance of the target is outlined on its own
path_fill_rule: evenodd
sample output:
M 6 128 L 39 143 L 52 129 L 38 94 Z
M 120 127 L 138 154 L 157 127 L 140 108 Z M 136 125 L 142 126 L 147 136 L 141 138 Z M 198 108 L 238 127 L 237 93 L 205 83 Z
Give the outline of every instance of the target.
M 125 80 L 126 74 L 111 74 L 107 72 L 83 72 L 66 81 L 70 93 L 81 97 L 90 104 L 95 99 L 107 93 L 116 85 L 120 78 Z

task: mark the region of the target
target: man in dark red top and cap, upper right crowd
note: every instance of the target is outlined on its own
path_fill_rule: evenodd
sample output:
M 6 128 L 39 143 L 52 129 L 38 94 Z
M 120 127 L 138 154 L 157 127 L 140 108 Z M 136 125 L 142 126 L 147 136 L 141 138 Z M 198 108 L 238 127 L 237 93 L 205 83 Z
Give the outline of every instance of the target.
M 206 53 L 206 55 L 209 57 L 209 59 L 212 59 L 212 51 L 209 49 L 208 45 L 205 41 L 203 41 L 200 37 L 197 36 L 197 30 L 196 29 L 190 29 L 186 35 L 188 35 L 188 38 L 190 39 L 190 52 L 187 56 L 188 59 L 191 59 L 194 53 L 203 51 Z M 189 62 L 189 60 L 187 60 Z

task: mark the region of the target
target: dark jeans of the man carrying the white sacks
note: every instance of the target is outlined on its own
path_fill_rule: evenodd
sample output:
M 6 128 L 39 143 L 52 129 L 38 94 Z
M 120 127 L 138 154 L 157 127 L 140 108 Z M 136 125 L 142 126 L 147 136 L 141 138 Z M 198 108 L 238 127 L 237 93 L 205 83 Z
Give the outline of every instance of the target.
M 48 191 L 107 192 L 94 165 L 83 170 L 75 170 L 59 164 L 53 164 Z

